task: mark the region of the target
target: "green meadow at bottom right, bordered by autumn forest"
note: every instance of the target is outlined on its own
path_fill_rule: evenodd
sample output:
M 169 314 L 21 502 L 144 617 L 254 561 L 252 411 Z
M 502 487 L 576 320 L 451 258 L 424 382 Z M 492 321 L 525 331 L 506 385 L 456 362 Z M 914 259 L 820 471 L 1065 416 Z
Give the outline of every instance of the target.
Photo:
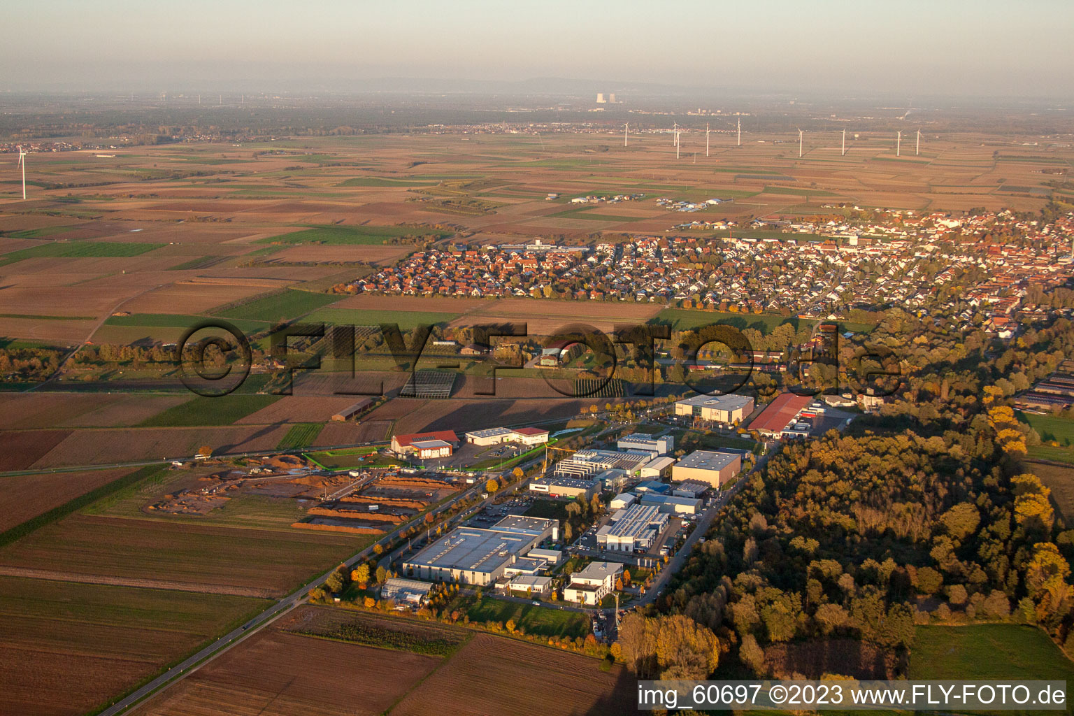
M 1034 627 L 977 624 L 914 629 L 912 680 L 1032 678 L 1074 681 L 1074 663 Z

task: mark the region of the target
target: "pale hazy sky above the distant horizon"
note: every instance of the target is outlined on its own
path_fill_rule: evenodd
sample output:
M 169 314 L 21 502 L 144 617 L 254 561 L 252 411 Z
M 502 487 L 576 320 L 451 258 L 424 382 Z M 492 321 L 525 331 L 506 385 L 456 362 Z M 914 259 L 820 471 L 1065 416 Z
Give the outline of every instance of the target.
M 33 0 L 0 89 L 281 89 L 379 77 L 1074 98 L 1070 0 Z

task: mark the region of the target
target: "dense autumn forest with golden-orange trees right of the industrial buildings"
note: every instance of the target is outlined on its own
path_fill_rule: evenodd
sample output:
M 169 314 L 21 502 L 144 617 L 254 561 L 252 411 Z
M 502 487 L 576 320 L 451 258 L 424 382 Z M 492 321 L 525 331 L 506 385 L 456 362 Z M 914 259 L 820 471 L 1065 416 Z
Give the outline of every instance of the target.
M 1074 354 L 1074 326 L 1000 342 L 894 309 L 869 340 L 899 355 L 896 399 L 745 478 L 624 622 L 618 655 L 639 675 L 895 678 L 926 624 L 1034 625 L 1074 654 L 1074 530 L 1010 405 Z

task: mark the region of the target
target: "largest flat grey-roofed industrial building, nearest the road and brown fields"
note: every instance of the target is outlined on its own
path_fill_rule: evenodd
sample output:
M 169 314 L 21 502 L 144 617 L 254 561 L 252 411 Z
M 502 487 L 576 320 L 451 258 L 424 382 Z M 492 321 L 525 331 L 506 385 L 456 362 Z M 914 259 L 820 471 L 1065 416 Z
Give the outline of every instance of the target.
M 524 515 L 508 515 L 488 529 L 458 527 L 404 560 L 403 569 L 423 580 L 489 585 L 543 540 L 557 539 L 558 528 L 558 520 Z M 519 567 L 525 573 L 533 565 Z

